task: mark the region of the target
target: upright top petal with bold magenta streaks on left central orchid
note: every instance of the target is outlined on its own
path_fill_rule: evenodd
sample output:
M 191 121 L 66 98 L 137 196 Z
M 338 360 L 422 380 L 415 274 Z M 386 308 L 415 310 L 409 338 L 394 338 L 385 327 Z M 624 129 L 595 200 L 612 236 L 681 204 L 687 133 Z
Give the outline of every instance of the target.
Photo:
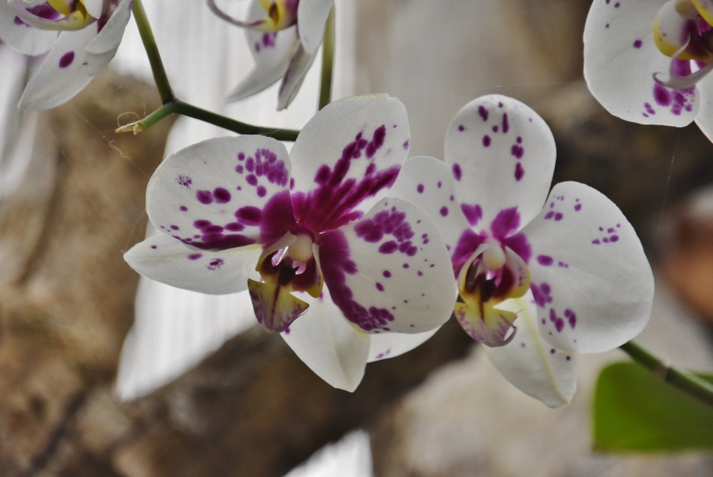
M 387 95 L 330 103 L 290 152 L 295 217 L 321 232 L 352 222 L 386 195 L 409 153 L 406 108 Z

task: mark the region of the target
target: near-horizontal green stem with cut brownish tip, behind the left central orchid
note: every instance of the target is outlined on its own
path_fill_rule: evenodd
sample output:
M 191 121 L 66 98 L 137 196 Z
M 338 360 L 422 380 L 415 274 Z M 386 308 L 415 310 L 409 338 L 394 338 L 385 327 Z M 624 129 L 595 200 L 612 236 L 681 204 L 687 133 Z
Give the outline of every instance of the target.
M 299 134 L 299 130 L 265 128 L 262 126 L 242 123 L 234 119 L 226 118 L 225 116 L 220 116 L 220 114 L 198 108 L 198 106 L 184 103 L 183 101 L 180 101 L 180 99 L 174 99 L 173 101 L 170 101 L 170 103 L 165 103 L 145 118 L 135 121 L 134 123 L 123 125 L 118 128 L 116 132 L 128 133 L 133 131 L 134 134 L 138 134 L 143 130 L 150 128 L 155 123 L 158 123 L 158 121 L 170 114 L 181 114 L 190 118 L 200 119 L 205 123 L 217 125 L 220 126 L 220 128 L 231 130 L 232 132 L 238 134 L 260 134 L 265 135 L 268 138 L 287 141 L 294 141 L 297 139 L 297 135 Z

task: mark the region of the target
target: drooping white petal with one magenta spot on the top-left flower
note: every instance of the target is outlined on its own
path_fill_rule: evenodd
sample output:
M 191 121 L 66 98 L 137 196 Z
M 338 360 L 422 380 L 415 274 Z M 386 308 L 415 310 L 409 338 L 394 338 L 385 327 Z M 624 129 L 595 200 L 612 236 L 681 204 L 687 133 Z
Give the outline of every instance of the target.
M 19 108 L 41 111 L 66 103 L 89 84 L 83 64 L 84 47 L 96 36 L 96 30 L 63 31 L 57 43 L 30 78 L 20 98 Z

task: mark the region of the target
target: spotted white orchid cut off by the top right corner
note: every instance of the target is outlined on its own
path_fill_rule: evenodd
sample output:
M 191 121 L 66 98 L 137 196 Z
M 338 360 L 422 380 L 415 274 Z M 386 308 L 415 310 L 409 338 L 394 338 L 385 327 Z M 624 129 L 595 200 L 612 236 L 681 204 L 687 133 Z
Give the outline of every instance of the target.
M 584 31 L 590 91 L 625 120 L 695 120 L 712 138 L 712 25 L 711 0 L 595 0 Z

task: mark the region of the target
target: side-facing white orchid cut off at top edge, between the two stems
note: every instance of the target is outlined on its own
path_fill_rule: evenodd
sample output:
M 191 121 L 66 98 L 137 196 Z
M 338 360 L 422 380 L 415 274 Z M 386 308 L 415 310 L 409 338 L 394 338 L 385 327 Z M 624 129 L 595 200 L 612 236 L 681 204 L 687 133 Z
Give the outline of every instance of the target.
M 220 10 L 215 0 L 207 1 L 220 18 L 246 29 L 255 59 L 255 67 L 227 101 L 248 98 L 282 79 L 277 110 L 287 108 L 317 56 L 334 0 L 251 0 L 247 21 L 233 19 Z

